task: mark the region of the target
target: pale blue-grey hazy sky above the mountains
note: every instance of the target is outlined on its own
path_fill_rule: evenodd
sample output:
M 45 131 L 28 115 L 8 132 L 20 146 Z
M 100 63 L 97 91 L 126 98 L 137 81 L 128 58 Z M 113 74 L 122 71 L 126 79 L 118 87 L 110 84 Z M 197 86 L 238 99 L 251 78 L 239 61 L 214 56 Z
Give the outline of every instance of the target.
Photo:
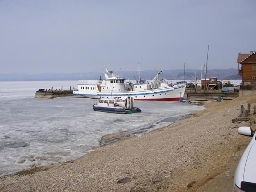
M 255 0 L 0 0 L 0 73 L 238 68 Z

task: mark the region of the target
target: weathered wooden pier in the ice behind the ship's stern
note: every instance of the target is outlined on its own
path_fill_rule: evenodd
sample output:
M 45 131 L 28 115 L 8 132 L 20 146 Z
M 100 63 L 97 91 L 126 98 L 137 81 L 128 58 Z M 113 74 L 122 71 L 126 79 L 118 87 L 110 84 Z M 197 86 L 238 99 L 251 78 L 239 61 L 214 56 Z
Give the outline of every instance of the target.
M 73 90 L 44 90 L 39 89 L 35 92 L 35 98 L 53 99 L 55 97 L 73 96 Z

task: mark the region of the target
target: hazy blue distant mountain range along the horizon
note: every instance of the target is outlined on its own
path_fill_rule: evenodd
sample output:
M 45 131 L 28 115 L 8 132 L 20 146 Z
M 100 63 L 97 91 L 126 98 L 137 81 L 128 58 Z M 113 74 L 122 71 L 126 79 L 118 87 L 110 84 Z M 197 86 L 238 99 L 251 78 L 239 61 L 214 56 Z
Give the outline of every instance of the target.
M 114 72 L 120 74 L 120 71 Z M 125 79 L 134 80 L 138 78 L 137 71 L 123 71 L 123 77 Z M 200 70 L 185 70 L 185 79 L 194 79 L 194 77 L 201 79 Z M 42 73 L 42 74 L 24 74 L 24 73 L 2 73 L 0 74 L 0 81 L 63 81 L 63 80 L 79 80 L 83 79 L 99 79 L 101 76 L 104 79 L 102 73 L 90 72 L 90 73 Z M 140 71 L 140 78 L 150 80 L 156 76 L 155 70 Z M 175 80 L 184 78 L 184 70 L 164 70 L 161 76 L 163 79 Z M 217 77 L 221 80 L 238 80 L 242 79 L 238 75 L 238 69 L 213 69 L 207 70 L 207 78 Z M 205 78 L 203 74 L 203 78 Z

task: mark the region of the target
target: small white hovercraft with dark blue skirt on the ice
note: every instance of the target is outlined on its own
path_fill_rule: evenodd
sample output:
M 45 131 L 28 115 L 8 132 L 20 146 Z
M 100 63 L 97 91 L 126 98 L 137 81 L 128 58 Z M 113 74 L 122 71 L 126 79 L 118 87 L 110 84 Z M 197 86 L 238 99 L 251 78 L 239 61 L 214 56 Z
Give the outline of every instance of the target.
M 133 101 L 134 99 L 130 96 L 122 99 L 120 97 L 100 99 L 98 104 L 93 105 L 93 110 L 118 114 L 140 113 L 140 108 L 135 108 Z

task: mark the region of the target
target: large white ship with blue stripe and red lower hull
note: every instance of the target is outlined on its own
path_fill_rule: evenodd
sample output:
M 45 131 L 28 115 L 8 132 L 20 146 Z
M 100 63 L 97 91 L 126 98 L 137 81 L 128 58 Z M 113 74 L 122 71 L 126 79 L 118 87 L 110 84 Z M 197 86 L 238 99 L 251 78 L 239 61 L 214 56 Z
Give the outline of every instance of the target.
M 134 100 L 142 101 L 181 101 L 186 84 L 177 84 L 170 87 L 159 80 L 160 71 L 150 83 L 130 84 L 127 86 L 122 76 L 115 76 L 113 71 L 105 68 L 104 80 L 79 80 L 78 90 L 74 95 L 92 99 L 115 98 L 131 96 Z

